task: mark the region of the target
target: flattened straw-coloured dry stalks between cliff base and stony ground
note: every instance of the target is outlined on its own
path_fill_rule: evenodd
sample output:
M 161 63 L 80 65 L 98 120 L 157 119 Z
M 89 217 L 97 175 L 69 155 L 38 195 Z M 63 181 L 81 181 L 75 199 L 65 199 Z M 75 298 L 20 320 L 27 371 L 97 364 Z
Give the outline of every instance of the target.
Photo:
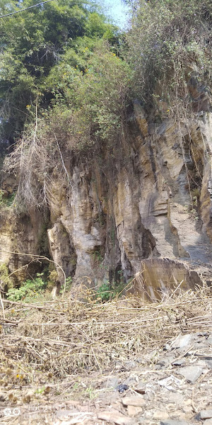
M 1 385 L 36 385 L 67 376 L 105 373 L 179 333 L 212 331 L 209 288 L 172 295 L 157 304 L 141 299 L 97 303 L 91 290 L 81 301 L 7 302 L 1 319 Z M 37 381 L 37 385 L 39 382 Z

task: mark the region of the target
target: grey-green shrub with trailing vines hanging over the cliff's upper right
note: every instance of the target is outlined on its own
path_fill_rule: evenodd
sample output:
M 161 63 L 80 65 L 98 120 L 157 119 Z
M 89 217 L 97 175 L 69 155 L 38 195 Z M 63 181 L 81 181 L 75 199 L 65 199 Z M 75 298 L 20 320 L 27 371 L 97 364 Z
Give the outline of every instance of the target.
M 165 102 L 167 113 L 178 118 L 198 111 L 195 89 L 211 89 L 211 0 L 131 3 L 127 40 L 136 95 L 146 108 Z

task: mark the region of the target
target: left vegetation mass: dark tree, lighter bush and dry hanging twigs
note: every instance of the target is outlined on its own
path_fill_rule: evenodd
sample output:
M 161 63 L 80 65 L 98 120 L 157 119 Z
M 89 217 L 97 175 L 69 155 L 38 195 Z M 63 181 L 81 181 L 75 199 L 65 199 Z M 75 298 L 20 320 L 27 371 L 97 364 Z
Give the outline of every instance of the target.
M 10 0 L 1 13 L 31 1 Z M 1 140 L 16 141 L 6 170 L 20 181 L 17 198 L 41 205 L 51 192 L 52 166 L 67 178 L 71 153 L 108 149 L 113 156 L 129 66 L 119 57 L 119 28 L 90 0 L 52 1 L 0 26 Z

